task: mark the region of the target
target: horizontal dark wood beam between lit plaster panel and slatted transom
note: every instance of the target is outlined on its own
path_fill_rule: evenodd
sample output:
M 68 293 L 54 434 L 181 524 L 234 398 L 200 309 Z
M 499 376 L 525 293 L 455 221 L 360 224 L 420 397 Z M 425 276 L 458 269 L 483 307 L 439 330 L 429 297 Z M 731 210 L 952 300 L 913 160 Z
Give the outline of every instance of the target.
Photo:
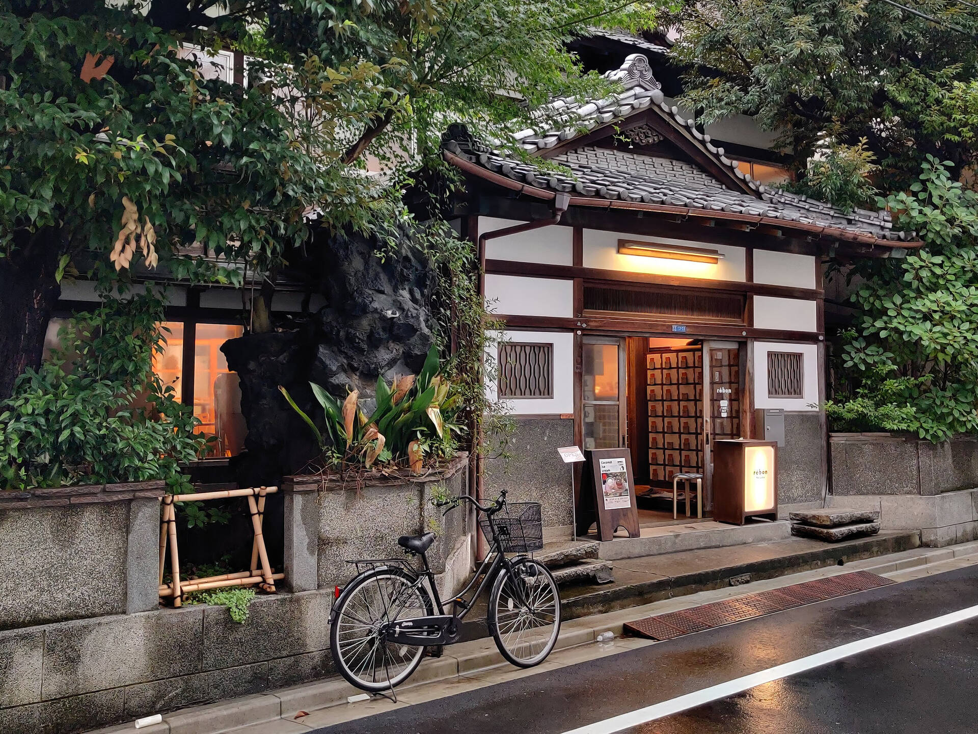
M 574 267 L 573 265 L 552 265 L 543 262 L 515 262 L 512 260 L 486 260 L 486 272 L 495 275 L 522 275 L 538 278 L 557 278 L 573 280 L 584 278 L 591 281 L 618 283 L 642 283 L 665 286 L 688 291 L 690 288 L 720 293 L 753 293 L 760 296 L 778 298 L 801 298 L 813 300 L 822 298 L 822 291 L 789 286 L 772 286 L 766 283 L 738 283 L 731 280 L 707 280 L 705 278 L 684 278 L 676 275 L 656 275 L 653 273 L 629 273 L 620 270 L 602 270 L 594 267 Z

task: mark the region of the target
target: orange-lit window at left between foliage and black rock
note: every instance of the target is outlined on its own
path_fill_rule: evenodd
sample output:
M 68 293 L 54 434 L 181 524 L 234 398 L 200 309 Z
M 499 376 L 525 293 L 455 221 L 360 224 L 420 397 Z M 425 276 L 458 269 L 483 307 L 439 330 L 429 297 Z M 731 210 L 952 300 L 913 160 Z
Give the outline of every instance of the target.
M 192 402 L 200 420 L 198 433 L 214 436 L 212 456 L 235 456 L 244 448 L 246 429 L 241 412 L 238 375 L 228 369 L 221 344 L 236 339 L 244 328 L 228 324 L 184 324 L 167 321 L 166 346 L 154 359 L 154 369 L 165 385 L 176 391 L 181 402 Z M 192 338 L 193 350 L 187 339 Z M 185 371 L 184 358 L 193 354 L 194 373 Z

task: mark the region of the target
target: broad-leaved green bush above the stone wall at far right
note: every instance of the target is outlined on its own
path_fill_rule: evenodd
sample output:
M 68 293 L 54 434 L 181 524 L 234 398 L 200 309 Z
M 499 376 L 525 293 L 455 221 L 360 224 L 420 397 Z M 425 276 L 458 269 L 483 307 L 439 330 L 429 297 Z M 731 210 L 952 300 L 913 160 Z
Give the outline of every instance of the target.
M 843 335 L 848 390 L 830 417 L 931 440 L 978 431 L 978 194 L 931 157 L 909 192 L 879 205 L 925 249 L 857 266 L 861 309 Z

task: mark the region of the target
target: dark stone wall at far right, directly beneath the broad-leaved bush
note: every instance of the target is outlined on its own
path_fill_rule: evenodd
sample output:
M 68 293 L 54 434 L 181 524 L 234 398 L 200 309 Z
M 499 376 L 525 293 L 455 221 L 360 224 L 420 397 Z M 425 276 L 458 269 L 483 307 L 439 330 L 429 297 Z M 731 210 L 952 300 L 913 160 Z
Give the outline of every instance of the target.
M 978 438 L 934 444 L 886 434 L 829 436 L 832 494 L 929 496 L 978 486 Z

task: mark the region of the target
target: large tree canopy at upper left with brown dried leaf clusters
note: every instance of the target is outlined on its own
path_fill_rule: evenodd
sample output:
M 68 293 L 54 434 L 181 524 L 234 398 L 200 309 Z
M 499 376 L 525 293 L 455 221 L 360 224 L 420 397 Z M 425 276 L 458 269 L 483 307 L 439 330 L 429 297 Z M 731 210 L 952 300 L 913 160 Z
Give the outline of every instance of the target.
M 409 173 L 450 121 L 525 123 L 545 98 L 605 88 L 564 42 L 592 24 L 646 25 L 655 7 L 0 0 L 0 397 L 39 363 L 61 277 L 83 255 L 123 279 L 158 259 L 234 282 L 241 263 L 274 273 L 313 209 L 327 227 L 392 232 Z M 247 86 L 204 79 L 178 58 L 187 42 L 261 61 Z M 368 175 L 370 157 L 386 177 Z

